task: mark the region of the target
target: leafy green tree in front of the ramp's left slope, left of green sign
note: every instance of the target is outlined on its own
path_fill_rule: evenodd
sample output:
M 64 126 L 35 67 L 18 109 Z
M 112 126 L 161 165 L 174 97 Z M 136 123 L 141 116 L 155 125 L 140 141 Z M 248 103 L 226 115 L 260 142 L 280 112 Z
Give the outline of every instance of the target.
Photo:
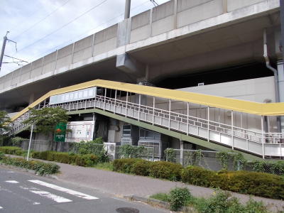
M 66 110 L 60 107 L 56 108 L 43 108 L 43 109 L 30 109 L 31 114 L 23 124 L 35 124 L 35 132 L 52 133 L 54 136 L 55 126 L 60 123 L 67 123 L 69 116 Z M 53 139 L 52 139 L 53 142 Z

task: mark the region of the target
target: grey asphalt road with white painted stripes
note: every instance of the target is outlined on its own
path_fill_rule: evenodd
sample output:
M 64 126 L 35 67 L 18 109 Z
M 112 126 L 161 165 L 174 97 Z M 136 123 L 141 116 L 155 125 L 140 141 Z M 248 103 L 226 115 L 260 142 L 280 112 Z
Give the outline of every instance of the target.
M 2 212 L 160 213 L 168 211 L 148 204 L 130 202 L 91 188 L 78 187 L 72 183 L 67 184 L 1 167 L 0 213 Z

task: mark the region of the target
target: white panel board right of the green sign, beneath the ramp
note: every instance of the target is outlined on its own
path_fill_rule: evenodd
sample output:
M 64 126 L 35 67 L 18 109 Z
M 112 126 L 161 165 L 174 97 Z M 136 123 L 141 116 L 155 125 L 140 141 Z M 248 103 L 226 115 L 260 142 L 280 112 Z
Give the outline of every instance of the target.
M 71 121 L 67 123 L 65 142 L 92 141 L 94 135 L 94 121 Z

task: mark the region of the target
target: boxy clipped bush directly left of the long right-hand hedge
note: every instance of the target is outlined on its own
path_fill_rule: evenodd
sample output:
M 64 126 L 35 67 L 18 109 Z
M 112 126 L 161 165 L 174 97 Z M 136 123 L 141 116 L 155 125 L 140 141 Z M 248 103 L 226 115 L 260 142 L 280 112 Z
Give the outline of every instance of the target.
M 155 161 L 150 166 L 149 175 L 153 178 L 163 178 L 167 180 L 180 180 L 182 165 L 166 161 Z

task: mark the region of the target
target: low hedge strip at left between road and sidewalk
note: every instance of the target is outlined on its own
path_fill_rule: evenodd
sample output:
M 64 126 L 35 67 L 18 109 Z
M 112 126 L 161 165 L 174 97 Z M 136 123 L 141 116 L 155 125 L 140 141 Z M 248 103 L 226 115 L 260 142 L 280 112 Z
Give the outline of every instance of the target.
M 15 165 L 28 170 L 35 170 L 38 175 L 51 175 L 59 172 L 59 165 L 54 163 L 43 163 L 38 160 L 25 160 L 23 158 L 3 157 L 2 163 L 7 165 Z

